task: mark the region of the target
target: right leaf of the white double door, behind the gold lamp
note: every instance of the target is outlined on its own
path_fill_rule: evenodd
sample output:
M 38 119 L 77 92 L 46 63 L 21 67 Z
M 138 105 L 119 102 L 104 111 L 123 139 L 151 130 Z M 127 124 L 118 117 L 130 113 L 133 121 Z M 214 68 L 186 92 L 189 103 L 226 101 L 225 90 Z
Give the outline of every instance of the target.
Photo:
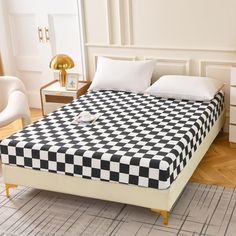
M 48 24 L 52 55 L 70 55 L 75 62 L 70 72 L 83 74 L 77 1 L 43 1 L 47 5 L 45 24 Z

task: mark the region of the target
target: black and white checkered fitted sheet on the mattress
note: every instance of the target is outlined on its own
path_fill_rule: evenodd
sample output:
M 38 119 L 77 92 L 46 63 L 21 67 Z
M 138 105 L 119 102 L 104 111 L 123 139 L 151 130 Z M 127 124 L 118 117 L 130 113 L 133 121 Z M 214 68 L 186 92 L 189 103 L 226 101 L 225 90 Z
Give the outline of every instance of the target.
M 211 102 L 120 91 L 88 92 L 3 140 L 5 164 L 82 178 L 166 189 L 223 110 Z M 82 111 L 101 113 L 73 124 Z

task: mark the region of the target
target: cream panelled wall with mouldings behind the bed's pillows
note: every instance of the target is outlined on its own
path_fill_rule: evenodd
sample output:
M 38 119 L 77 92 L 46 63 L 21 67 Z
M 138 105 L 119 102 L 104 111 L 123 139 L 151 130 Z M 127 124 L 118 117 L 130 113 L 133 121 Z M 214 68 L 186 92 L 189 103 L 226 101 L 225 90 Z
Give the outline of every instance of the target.
M 156 58 L 155 77 L 190 74 L 227 83 L 236 66 L 235 0 L 81 0 L 88 77 L 96 56 Z

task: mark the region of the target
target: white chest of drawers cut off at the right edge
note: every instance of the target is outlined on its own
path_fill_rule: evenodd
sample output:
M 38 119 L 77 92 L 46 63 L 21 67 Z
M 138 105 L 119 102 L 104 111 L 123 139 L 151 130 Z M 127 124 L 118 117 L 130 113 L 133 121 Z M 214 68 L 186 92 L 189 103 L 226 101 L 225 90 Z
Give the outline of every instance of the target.
M 231 68 L 229 141 L 236 147 L 236 67 Z

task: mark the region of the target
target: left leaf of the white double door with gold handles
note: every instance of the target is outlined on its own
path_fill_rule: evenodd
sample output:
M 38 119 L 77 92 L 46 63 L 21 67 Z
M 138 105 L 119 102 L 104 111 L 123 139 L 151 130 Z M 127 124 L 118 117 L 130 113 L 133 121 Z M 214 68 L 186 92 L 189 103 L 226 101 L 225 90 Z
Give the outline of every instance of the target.
M 45 78 L 53 76 L 48 69 L 51 55 L 43 38 L 39 1 L 8 0 L 7 11 L 11 32 L 11 45 L 17 76 L 23 81 L 31 107 L 40 107 L 39 88 Z M 42 35 L 40 35 L 42 34 Z M 39 37 L 42 36 L 42 40 Z

